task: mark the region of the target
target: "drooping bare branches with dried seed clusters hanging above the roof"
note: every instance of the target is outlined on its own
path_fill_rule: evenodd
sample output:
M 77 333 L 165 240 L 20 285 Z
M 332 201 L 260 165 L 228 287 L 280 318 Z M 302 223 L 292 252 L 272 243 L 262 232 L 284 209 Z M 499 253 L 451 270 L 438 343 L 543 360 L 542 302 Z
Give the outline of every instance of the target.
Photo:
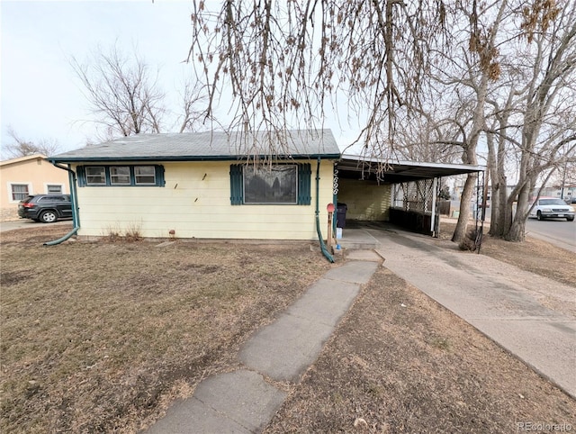
M 211 11 L 194 0 L 189 59 L 199 62 L 211 115 L 231 96 L 229 129 L 274 131 L 264 147 L 283 153 L 284 131 L 319 128 L 325 108 L 365 118 L 357 141 L 390 158 L 397 109 L 419 106 L 428 55 L 441 44 L 442 2 L 226 0 Z M 230 89 L 227 93 L 226 90 Z M 231 95 L 229 95 L 231 94 Z

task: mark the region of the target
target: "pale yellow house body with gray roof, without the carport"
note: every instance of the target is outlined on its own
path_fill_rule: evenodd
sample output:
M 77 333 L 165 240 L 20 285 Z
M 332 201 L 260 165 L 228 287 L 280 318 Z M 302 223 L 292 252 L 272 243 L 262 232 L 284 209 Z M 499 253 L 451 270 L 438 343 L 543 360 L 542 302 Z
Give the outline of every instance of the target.
M 329 130 L 286 131 L 270 157 L 258 151 L 265 134 L 139 134 L 49 161 L 76 172 L 80 237 L 315 240 L 316 216 L 324 228 L 334 197 L 336 140 Z

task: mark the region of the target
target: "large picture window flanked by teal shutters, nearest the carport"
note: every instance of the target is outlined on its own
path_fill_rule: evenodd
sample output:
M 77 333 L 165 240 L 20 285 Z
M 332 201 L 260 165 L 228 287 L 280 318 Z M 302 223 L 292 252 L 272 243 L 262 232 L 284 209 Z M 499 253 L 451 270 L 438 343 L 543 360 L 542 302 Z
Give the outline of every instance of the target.
M 310 164 L 277 164 L 272 167 L 230 166 L 230 203 L 311 203 Z

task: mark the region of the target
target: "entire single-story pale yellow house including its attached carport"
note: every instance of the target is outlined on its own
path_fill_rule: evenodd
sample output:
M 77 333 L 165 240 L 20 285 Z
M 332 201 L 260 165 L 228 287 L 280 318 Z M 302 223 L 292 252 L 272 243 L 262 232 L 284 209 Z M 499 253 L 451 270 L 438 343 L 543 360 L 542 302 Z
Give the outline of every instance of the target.
M 341 155 L 329 130 L 139 134 L 50 157 L 70 175 L 77 234 L 318 240 L 346 220 L 435 234 L 438 178 L 482 167 Z M 336 228 L 335 228 L 336 229 Z

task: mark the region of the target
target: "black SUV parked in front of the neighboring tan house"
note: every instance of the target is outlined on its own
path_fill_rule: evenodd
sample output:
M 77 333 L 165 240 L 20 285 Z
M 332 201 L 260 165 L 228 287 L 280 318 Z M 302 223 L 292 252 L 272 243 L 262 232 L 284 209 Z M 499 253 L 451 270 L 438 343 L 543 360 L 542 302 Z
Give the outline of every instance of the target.
M 35 222 L 53 223 L 72 218 L 70 194 L 35 194 L 18 203 L 18 215 Z

